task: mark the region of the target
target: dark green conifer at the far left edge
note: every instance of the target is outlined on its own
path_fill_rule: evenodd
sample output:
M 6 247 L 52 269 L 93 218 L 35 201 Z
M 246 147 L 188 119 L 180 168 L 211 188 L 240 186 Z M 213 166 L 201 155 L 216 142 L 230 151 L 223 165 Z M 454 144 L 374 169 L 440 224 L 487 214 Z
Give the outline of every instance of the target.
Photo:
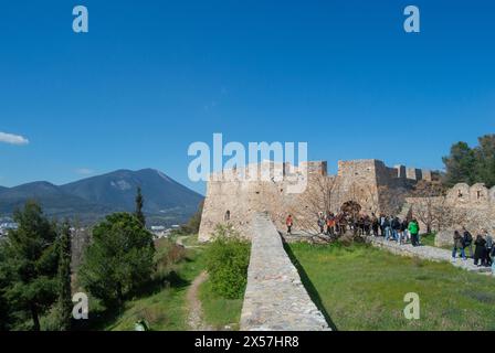
M 13 218 L 19 228 L 8 234 L 2 264 L 11 276 L 6 297 L 10 306 L 31 315 L 39 331 L 40 315 L 56 300 L 56 231 L 32 201 Z

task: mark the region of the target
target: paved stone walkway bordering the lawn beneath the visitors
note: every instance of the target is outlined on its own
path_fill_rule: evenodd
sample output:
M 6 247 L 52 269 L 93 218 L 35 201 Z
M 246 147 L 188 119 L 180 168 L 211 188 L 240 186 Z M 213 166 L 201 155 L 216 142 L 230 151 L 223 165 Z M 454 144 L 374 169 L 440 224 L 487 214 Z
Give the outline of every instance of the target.
M 376 247 L 380 247 L 383 249 L 389 250 L 390 253 L 397 254 L 397 255 L 403 255 L 403 256 L 410 256 L 410 257 L 418 257 L 426 260 L 432 261 L 449 261 L 455 267 L 460 267 L 463 269 L 466 269 L 472 272 L 478 272 L 478 274 L 489 274 L 491 268 L 489 267 L 477 267 L 473 264 L 473 259 L 468 258 L 467 260 L 463 260 L 462 258 L 456 258 L 455 261 L 452 261 L 452 252 L 428 246 L 428 245 L 421 245 L 421 246 L 412 246 L 411 244 L 403 244 L 399 245 L 396 242 L 389 242 L 386 240 L 383 237 L 372 237 L 368 236 L 367 242 L 369 242 L 371 245 Z

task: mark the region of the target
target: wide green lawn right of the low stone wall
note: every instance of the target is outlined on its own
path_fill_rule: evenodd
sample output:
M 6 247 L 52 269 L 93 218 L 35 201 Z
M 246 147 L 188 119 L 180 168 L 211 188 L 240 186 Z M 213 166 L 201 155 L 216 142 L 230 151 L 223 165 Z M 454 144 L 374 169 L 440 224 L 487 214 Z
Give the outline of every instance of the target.
M 494 278 L 362 244 L 287 249 L 313 300 L 338 330 L 495 330 Z M 403 315 L 408 292 L 420 297 L 420 320 Z

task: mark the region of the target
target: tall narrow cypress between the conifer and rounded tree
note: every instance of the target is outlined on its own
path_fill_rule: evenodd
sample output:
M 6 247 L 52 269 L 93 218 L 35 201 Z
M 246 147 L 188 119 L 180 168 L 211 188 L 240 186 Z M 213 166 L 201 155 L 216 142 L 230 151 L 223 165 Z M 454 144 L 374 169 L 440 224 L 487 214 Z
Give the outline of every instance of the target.
M 69 331 L 72 327 L 72 290 L 71 290 L 71 226 L 65 222 L 59 238 L 59 301 L 57 325 L 61 331 Z

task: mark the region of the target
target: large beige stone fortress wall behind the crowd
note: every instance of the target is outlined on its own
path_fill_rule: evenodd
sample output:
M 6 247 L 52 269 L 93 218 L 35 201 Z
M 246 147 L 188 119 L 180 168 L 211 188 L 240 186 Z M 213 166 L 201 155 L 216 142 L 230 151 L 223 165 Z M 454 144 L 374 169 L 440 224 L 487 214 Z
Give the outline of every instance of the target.
M 407 173 L 407 168 L 387 167 L 378 160 L 339 161 L 337 175 L 328 175 L 325 161 L 305 162 L 298 167 L 270 161 L 224 170 L 211 175 L 207 186 L 199 239 L 209 240 L 218 224 L 231 224 L 242 236 L 250 238 L 250 222 L 257 212 L 267 212 L 278 228 L 292 214 L 294 228 L 310 229 L 318 212 L 340 211 L 355 201 L 362 212 L 392 212 L 390 201 L 400 202 L 404 193 L 429 171 Z M 294 186 L 306 184 L 303 192 Z

